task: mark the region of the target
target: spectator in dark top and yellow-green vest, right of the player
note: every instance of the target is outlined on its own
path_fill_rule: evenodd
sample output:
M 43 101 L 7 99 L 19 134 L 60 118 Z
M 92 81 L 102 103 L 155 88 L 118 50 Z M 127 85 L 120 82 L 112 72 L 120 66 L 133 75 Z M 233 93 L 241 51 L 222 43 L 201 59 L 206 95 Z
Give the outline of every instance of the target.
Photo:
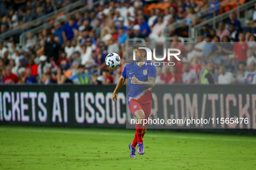
M 204 69 L 201 76 L 201 84 L 204 84 L 204 85 L 214 84 L 214 79 L 212 75 L 213 69 L 214 69 L 213 63 L 211 61 L 208 61 L 206 69 Z

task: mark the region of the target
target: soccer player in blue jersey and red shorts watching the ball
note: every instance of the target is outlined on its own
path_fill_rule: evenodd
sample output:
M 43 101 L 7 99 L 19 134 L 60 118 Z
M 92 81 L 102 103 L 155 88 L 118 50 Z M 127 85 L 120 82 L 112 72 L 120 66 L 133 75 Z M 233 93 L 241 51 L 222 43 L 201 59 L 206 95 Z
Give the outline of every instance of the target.
M 136 44 L 133 47 L 147 47 L 143 44 Z M 130 143 L 130 157 L 136 157 L 136 145 L 138 144 L 138 153 L 144 154 L 143 136 L 146 133 L 147 126 L 143 127 L 143 120 L 148 120 L 151 113 L 152 87 L 156 81 L 156 66 L 151 61 L 146 61 L 146 50 L 140 49 L 139 54 L 135 54 L 135 61 L 127 64 L 123 74 L 118 80 L 117 87 L 113 92 L 112 99 L 117 101 L 117 91 L 129 80 L 130 93 L 127 94 L 128 108 L 136 116 L 136 133 L 133 142 Z

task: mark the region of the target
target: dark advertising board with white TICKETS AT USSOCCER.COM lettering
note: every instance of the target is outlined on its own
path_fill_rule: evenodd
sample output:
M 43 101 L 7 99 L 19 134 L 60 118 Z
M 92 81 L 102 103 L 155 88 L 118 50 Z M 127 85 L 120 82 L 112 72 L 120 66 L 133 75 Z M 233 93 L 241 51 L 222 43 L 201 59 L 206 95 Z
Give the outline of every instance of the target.
M 112 101 L 115 85 L 0 85 L 0 124 L 127 128 L 126 88 Z M 157 129 L 211 129 L 255 133 L 255 85 L 156 85 L 152 118 L 214 118 L 210 124 L 159 125 Z M 128 91 L 127 91 L 128 92 Z M 248 123 L 224 123 L 219 118 L 248 118 Z

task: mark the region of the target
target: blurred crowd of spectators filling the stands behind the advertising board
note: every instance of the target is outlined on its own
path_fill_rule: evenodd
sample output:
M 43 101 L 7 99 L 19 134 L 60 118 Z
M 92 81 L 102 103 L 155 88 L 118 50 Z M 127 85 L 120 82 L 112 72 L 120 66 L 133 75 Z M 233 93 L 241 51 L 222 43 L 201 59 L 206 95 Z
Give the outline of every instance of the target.
M 27 7 L 29 1 L 25 2 Z M 156 84 L 256 84 L 256 11 L 250 29 L 243 29 L 236 14 L 230 13 L 228 28 L 222 22 L 218 23 L 217 30 L 204 25 L 194 43 L 182 44 L 178 31 L 169 27 L 209 6 L 217 10 L 214 6 L 218 3 L 218 0 L 211 0 L 211 3 L 208 0 L 100 3 L 91 10 L 68 17 L 66 23 L 54 22 L 52 28 L 35 35 L 28 33 L 23 47 L 16 47 L 12 38 L 0 43 L 0 83 L 114 84 L 126 65 L 126 41 L 135 38 L 163 42 L 162 32 L 167 30 L 173 37 L 170 47 L 181 49 L 178 57 L 182 60 L 172 58 L 175 66 L 157 67 Z M 46 9 L 43 9 L 45 13 Z M 14 13 L 14 9 L 5 7 L 3 12 L 6 16 Z M 6 29 L 2 25 L 1 33 Z M 111 52 L 121 57 L 117 69 L 105 64 L 105 57 Z

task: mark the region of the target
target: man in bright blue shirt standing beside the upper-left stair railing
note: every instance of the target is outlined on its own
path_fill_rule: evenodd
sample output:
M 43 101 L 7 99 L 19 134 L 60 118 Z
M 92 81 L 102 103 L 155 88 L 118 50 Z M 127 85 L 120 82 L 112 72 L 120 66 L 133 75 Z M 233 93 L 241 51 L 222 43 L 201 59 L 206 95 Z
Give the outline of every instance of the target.
M 73 39 L 74 29 L 78 29 L 78 25 L 75 24 L 75 17 L 71 16 L 68 19 L 68 23 L 62 26 L 62 37 L 64 41 Z

